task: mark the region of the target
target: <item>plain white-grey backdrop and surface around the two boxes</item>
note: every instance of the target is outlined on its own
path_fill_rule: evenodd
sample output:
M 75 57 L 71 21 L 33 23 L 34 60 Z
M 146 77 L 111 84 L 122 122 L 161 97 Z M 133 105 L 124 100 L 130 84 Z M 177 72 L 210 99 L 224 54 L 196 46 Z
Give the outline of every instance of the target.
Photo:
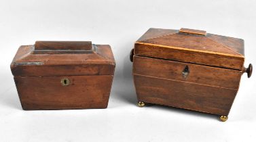
M 194 28 L 245 41 L 256 66 L 255 1 L 0 1 L 0 141 L 255 141 L 256 72 L 244 74 L 227 122 L 218 116 L 136 106 L 130 49 L 148 28 Z M 109 107 L 24 111 L 10 71 L 37 40 L 109 44 L 116 60 Z

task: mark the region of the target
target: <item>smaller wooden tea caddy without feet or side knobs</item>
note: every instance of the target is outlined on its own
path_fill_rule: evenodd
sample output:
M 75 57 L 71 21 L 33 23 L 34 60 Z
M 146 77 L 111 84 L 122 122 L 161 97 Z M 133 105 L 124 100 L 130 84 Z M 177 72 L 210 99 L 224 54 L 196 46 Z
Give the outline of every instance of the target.
M 23 110 L 107 108 L 115 70 L 109 45 L 37 41 L 11 64 Z

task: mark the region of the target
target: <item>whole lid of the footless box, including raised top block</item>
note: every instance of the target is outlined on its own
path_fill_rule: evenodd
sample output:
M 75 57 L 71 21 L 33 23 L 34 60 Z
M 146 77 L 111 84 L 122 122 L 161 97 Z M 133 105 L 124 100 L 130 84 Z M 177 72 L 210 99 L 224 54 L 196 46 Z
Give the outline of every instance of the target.
M 111 47 L 90 41 L 36 41 L 21 46 L 11 64 L 14 76 L 109 75 L 114 68 Z

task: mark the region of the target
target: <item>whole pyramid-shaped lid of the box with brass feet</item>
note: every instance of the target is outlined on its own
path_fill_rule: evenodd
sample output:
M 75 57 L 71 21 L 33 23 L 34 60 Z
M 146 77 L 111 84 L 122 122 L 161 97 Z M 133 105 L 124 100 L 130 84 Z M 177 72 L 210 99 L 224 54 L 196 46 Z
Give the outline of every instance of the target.
M 150 28 L 134 45 L 135 55 L 242 70 L 244 41 L 204 30 Z

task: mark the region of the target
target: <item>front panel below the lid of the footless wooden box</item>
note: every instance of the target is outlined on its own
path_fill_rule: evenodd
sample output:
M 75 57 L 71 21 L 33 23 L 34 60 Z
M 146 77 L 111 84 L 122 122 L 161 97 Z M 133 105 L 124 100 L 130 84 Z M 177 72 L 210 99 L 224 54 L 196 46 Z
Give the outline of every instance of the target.
M 69 78 L 70 85 L 60 80 Z M 113 75 L 15 76 L 24 110 L 107 108 Z

